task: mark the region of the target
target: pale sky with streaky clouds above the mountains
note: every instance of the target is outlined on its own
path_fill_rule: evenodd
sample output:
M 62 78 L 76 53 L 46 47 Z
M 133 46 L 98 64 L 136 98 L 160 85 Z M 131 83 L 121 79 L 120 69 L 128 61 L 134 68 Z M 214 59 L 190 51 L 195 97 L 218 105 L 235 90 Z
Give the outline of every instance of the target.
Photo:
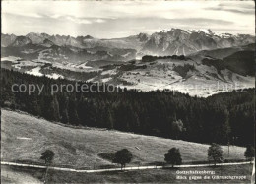
M 179 28 L 255 34 L 254 1 L 2 1 L 2 32 L 117 38 Z

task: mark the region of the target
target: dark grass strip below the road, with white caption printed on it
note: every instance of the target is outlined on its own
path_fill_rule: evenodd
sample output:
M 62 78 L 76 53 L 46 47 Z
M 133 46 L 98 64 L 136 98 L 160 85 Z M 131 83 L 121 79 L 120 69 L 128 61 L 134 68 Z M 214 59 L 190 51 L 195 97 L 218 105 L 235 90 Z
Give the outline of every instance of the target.
M 2 166 L 2 170 L 6 167 Z M 31 175 L 38 181 L 43 180 L 44 169 L 12 167 L 13 172 L 20 172 Z M 214 171 L 214 176 L 246 176 L 243 180 L 189 180 L 176 179 L 177 171 L 189 170 L 207 170 Z M 202 168 L 182 168 L 182 169 L 152 169 L 152 170 L 135 170 L 120 172 L 102 172 L 102 173 L 74 173 L 49 170 L 49 183 L 250 183 L 252 165 L 235 165 L 223 167 L 202 167 Z M 181 175 L 181 174 L 180 174 Z M 187 177 L 192 174 L 187 175 Z M 200 175 L 197 175 L 200 176 Z M 209 175 L 211 176 L 211 175 Z M 2 176 L 2 178 L 5 178 Z M 13 180 L 14 181 L 14 180 Z

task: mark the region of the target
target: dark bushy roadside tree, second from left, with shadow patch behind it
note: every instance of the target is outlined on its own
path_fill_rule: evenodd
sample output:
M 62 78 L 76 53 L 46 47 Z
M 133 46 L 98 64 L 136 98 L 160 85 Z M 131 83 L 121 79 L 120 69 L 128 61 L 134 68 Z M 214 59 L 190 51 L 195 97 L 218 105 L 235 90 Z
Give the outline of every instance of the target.
M 121 169 L 125 167 L 125 164 L 130 163 L 132 160 L 132 153 L 127 149 L 117 151 L 114 155 L 113 163 L 121 164 Z

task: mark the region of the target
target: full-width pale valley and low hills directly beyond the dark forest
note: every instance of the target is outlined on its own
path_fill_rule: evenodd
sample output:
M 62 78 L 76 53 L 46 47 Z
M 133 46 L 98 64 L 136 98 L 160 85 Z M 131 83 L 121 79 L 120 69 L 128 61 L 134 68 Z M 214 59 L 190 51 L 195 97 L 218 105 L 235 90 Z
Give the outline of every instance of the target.
M 141 60 L 88 60 L 78 63 L 65 61 L 66 56 L 63 58 L 61 54 L 54 59 L 48 55 L 51 49 L 45 49 L 38 53 L 36 59 L 7 56 L 1 58 L 1 64 L 3 68 L 35 76 L 108 83 L 144 92 L 171 90 L 207 97 L 254 87 L 253 48 L 253 45 L 234 47 L 235 51 L 232 49 L 228 56 L 222 55 L 226 53 L 224 48 L 183 57 L 156 57 L 150 62 L 145 56 Z

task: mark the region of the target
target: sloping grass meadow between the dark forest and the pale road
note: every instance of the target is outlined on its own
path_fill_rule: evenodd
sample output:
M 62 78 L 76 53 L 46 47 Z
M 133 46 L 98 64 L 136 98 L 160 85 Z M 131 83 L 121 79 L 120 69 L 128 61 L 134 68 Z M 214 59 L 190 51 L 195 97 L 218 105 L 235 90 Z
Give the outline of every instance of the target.
M 209 145 L 143 136 L 118 131 L 64 127 L 25 113 L 2 110 L 2 159 L 43 163 L 40 154 L 49 149 L 55 153 L 53 164 L 75 168 L 100 168 L 113 165 L 100 153 L 128 149 L 133 161 L 127 165 L 163 162 L 164 154 L 179 148 L 183 162 L 207 160 Z M 223 147 L 227 158 L 227 147 Z M 230 147 L 230 159 L 243 159 L 245 148 Z

